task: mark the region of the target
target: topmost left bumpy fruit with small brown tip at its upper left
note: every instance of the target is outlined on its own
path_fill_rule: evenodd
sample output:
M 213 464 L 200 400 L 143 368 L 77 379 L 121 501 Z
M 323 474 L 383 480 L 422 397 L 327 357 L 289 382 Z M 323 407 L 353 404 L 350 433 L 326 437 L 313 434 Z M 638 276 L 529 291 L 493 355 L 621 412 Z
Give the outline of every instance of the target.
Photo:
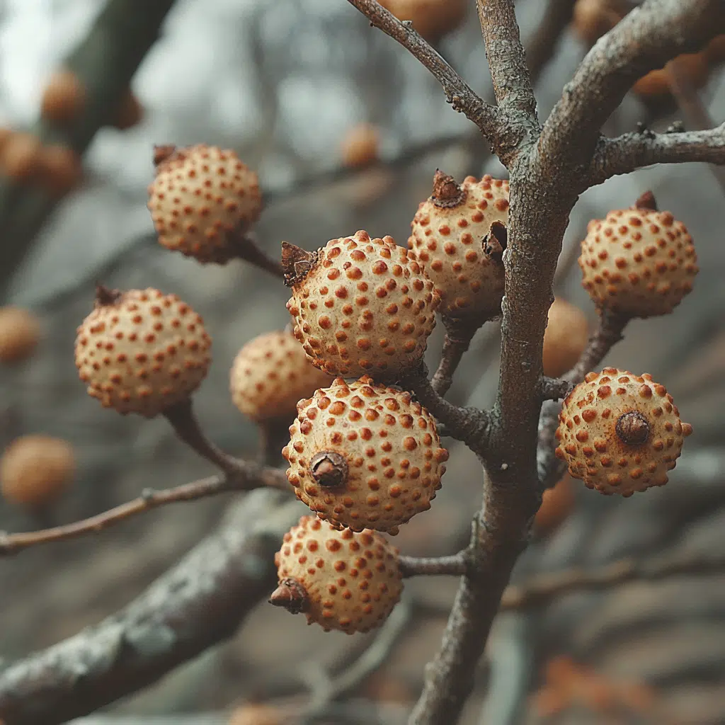
M 217 146 L 159 148 L 148 206 L 160 244 L 199 262 L 238 256 L 239 237 L 262 211 L 257 174 Z

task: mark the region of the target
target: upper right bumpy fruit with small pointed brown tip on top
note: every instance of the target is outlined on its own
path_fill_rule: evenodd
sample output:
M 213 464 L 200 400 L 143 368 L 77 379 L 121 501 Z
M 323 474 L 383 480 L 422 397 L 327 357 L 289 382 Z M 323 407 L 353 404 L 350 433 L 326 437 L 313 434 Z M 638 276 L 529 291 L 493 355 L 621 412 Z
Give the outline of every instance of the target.
M 595 305 L 640 318 L 672 312 L 698 271 L 687 228 L 657 211 L 649 192 L 636 206 L 589 222 L 579 267 Z

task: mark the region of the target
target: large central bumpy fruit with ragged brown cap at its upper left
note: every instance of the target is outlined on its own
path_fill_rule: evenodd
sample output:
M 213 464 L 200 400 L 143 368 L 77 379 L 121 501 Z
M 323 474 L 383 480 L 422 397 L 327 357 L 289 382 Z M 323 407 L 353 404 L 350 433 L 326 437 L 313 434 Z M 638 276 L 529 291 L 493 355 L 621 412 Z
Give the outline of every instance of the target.
M 439 297 L 392 237 L 358 231 L 312 253 L 283 243 L 282 265 L 294 336 L 320 370 L 397 375 L 421 362 Z

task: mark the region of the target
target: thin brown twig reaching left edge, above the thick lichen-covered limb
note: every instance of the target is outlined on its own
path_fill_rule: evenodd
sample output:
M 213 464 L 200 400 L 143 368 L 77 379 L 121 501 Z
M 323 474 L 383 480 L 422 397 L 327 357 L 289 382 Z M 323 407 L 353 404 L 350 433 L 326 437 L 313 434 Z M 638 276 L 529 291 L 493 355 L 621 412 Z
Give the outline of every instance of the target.
M 125 521 L 144 511 L 150 511 L 170 503 L 196 501 L 209 496 L 232 491 L 250 491 L 256 488 L 274 488 L 289 492 L 289 481 L 281 468 L 263 468 L 254 463 L 239 461 L 237 470 L 230 476 L 210 476 L 171 489 L 144 489 L 141 496 L 96 514 L 82 521 L 54 526 L 41 531 L 23 531 L 19 534 L 0 532 L 0 556 L 15 554 L 40 544 L 51 544 L 76 539 L 86 534 L 99 534 L 110 526 Z

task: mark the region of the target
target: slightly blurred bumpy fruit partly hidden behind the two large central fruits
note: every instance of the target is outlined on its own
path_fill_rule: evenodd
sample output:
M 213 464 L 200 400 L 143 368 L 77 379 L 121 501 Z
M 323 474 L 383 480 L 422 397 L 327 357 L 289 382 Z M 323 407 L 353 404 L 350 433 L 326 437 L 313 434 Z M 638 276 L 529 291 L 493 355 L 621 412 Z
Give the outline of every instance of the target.
M 231 368 L 231 397 L 253 421 L 294 418 L 297 402 L 331 383 L 310 365 L 302 345 L 289 332 L 270 332 L 249 341 Z

